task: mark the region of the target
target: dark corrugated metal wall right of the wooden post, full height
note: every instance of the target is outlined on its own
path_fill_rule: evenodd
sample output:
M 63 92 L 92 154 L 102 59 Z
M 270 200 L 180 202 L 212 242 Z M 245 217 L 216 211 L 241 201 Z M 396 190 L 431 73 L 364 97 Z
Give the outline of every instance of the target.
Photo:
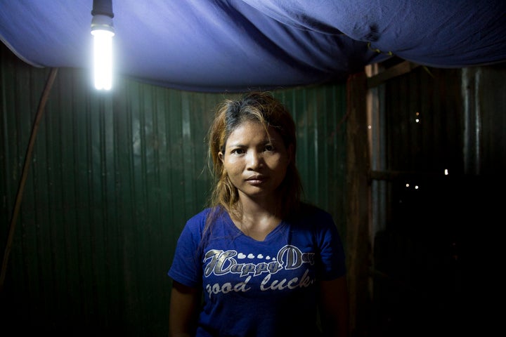
M 500 247 L 505 71 L 417 67 L 378 88 L 374 336 L 484 332 L 469 308 L 486 307 L 482 292 L 496 290 L 478 274 Z

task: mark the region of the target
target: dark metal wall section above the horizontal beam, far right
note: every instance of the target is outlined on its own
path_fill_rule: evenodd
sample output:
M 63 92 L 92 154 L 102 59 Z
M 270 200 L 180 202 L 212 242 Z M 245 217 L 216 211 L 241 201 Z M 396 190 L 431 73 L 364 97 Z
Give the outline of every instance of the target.
M 504 64 L 417 67 L 384 84 L 391 171 L 479 175 L 506 167 Z

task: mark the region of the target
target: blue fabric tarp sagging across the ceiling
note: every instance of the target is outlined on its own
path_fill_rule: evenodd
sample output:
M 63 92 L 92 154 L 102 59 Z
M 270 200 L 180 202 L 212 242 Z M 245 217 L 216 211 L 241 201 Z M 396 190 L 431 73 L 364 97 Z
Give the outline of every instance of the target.
M 0 38 L 35 67 L 91 69 L 92 0 L 0 0 Z M 113 0 L 115 72 L 238 92 L 344 81 L 392 55 L 506 60 L 505 0 Z

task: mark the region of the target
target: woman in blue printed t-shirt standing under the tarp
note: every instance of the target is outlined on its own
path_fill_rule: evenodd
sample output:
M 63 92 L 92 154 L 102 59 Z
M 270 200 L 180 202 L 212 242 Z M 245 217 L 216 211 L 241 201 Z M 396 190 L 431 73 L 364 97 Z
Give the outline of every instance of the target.
M 300 201 L 295 124 L 269 93 L 225 100 L 209 130 L 216 184 L 174 262 L 169 336 L 346 336 L 344 251 Z

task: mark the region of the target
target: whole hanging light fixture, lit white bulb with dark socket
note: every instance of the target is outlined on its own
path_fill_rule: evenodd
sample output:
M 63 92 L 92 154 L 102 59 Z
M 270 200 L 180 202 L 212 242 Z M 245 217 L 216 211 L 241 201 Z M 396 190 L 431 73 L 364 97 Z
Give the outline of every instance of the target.
M 110 90 L 112 87 L 112 0 L 93 0 L 91 11 L 91 35 L 93 35 L 93 75 L 95 88 Z

